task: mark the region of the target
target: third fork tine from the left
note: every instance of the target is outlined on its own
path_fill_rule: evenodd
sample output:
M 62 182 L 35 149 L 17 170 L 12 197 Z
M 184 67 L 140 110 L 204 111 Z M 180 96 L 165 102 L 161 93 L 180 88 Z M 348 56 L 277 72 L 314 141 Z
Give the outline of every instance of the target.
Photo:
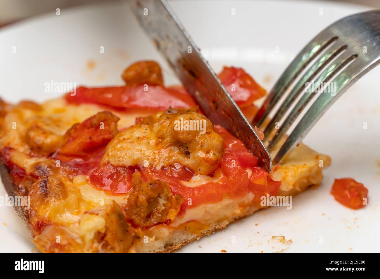
M 323 71 L 320 76 L 315 80 L 315 84 L 321 84 L 322 82 L 328 82 L 330 79 L 332 79 L 342 68 L 344 68 L 348 63 L 355 60 L 356 56 L 351 54 L 345 54 L 339 56 L 331 65 L 328 66 L 325 71 Z M 272 140 L 268 144 L 268 151 L 272 151 L 275 149 L 275 147 L 278 145 L 280 140 L 283 138 L 283 136 L 286 134 L 290 126 L 294 123 L 296 118 L 301 114 L 302 110 L 307 106 L 307 104 L 311 101 L 313 96 L 317 94 L 318 92 L 315 92 L 313 90 L 306 91 L 301 99 L 297 102 L 297 104 L 294 106 L 294 108 L 291 110 L 283 124 L 281 125 L 280 129 L 276 132 Z M 321 94 L 329 94 L 329 93 L 321 93 Z M 317 101 L 316 101 L 317 102 Z

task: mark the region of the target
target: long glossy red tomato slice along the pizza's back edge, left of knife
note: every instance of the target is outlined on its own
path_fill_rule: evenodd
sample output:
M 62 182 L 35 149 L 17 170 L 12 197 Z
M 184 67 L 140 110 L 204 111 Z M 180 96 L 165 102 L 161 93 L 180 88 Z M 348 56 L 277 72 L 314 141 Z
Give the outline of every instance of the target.
M 196 106 L 193 98 L 187 92 L 177 87 L 160 85 L 144 85 L 76 89 L 75 96 L 69 93 L 65 96 L 70 103 L 93 103 L 113 107 L 115 109 L 150 108 L 167 109 L 168 107 Z

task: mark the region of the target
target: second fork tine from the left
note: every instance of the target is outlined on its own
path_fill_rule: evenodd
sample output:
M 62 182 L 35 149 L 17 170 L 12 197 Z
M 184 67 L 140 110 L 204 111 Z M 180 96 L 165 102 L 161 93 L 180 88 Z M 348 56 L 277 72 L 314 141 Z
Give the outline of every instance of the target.
M 341 41 L 336 41 L 334 46 L 331 46 L 326 52 L 318 58 L 317 61 L 308 69 L 308 71 L 302 76 L 298 83 L 294 86 L 293 90 L 288 94 L 285 101 L 281 104 L 274 117 L 269 122 L 264 130 L 264 139 L 269 140 L 269 136 L 274 131 L 276 123 L 279 122 L 285 113 L 288 111 L 289 107 L 296 100 L 297 96 L 305 90 L 305 84 L 310 82 L 328 63 L 333 60 L 337 55 L 341 54 L 347 46 Z

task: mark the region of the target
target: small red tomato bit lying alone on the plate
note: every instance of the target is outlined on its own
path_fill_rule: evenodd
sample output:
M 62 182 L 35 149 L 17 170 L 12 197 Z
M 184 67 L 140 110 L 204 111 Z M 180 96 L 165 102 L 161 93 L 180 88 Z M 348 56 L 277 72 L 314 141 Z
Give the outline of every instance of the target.
M 352 209 L 359 209 L 367 204 L 368 189 L 352 178 L 334 180 L 331 194 L 342 205 Z

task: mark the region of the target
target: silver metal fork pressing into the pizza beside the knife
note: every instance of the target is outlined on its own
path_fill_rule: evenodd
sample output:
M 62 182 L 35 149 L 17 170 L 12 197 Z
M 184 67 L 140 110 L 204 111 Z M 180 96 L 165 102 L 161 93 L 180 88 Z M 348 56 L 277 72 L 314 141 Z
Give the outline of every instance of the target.
M 380 11 L 347 16 L 313 38 L 277 80 L 252 122 L 264 131 L 272 162 L 285 159 L 326 110 L 379 62 Z M 313 90 L 312 83 L 323 90 Z M 336 90 L 331 90 L 334 86 Z M 330 92 L 323 92 L 326 88 Z M 287 131 L 313 97 L 316 100 L 287 137 Z M 284 99 L 281 104 L 280 99 Z

